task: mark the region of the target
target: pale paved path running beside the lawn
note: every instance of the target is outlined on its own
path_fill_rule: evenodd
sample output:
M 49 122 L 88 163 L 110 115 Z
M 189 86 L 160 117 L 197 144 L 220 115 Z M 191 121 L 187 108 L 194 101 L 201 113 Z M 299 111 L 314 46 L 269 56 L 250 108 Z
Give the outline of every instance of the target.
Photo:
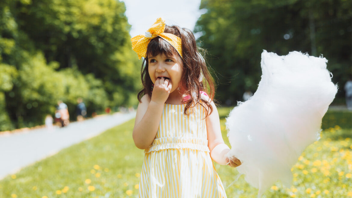
M 135 116 L 136 112 L 119 112 L 73 122 L 64 128 L 54 127 L 52 130 L 42 128 L 14 134 L 0 134 L 0 179 L 54 155 L 63 148 L 97 136 Z

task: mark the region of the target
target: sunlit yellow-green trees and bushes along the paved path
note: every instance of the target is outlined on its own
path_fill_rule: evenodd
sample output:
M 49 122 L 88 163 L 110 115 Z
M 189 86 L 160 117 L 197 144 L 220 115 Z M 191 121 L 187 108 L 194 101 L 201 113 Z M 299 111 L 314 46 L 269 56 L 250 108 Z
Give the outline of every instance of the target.
M 137 104 L 139 67 L 115 0 L 0 2 L 0 131 L 44 123 L 57 100 L 75 117 Z

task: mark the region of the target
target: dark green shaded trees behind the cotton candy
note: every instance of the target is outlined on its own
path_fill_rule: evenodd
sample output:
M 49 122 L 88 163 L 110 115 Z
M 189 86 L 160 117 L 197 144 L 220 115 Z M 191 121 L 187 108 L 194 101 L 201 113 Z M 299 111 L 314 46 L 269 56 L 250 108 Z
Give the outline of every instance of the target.
M 294 50 L 322 54 L 340 85 L 337 97 L 344 97 L 341 87 L 352 62 L 351 1 L 202 0 L 200 9 L 207 12 L 195 32 L 218 75 L 216 99 L 235 104 L 246 89 L 257 89 L 263 49 L 278 55 Z

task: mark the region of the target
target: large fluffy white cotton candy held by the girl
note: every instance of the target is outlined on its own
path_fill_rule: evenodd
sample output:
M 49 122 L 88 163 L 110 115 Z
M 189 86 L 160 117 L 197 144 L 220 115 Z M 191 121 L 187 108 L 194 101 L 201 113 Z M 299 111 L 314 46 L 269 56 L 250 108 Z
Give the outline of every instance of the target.
M 320 137 L 321 120 L 337 92 L 326 58 L 293 51 L 263 51 L 262 79 L 254 95 L 226 119 L 231 151 L 258 197 L 281 180 L 291 186 L 291 167 Z

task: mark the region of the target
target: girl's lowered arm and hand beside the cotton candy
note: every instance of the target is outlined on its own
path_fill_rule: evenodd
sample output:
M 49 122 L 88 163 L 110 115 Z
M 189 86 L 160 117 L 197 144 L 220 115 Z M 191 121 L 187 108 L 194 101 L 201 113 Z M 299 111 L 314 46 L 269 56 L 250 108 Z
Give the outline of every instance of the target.
M 210 104 L 213 107 L 213 112 L 206 118 L 210 157 L 220 165 L 237 167 L 241 165 L 241 162 L 237 158 L 229 160 L 226 157 L 226 154 L 230 151 L 230 148 L 222 139 L 218 109 L 216 109 L 213 101 L 211 101 Z

